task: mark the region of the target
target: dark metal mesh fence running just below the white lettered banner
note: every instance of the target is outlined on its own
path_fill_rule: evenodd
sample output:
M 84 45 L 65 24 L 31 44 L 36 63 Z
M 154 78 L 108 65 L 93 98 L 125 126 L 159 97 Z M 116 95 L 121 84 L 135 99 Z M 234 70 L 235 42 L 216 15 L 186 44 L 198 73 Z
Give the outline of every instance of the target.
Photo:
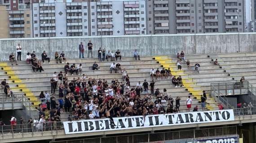
M 194 130 L 178 130 L 160 133 L 148 133 L 137 135 L 122 135 L 100 138 L 75 139 L 65 141 L 52 141 L 50 143 L 148 143 L 168 141 L 175 139 L 194 139 L 220 135 L 235 135 L 237 134 L 236 126 L 194 129 Z

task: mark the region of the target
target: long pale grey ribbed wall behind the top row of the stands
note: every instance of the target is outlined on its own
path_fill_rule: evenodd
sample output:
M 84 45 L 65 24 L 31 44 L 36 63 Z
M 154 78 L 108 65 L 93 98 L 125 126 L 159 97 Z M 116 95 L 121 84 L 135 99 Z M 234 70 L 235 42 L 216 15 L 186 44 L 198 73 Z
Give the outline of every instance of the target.
M 134 49 L 138 49 L 140 55 L 147 56 L 173 55 L 181 50 L 185 54 L 256 52 L 256 33 L 13 38 L 0 40 L 0 60 L 7 61 L 10 52 L 15 52 L 13 47 L 18 43 L 23 47 L 22 59 L 25 59 L 25 53 L 33 50 L 38 56 L 46 50 L 52 59 L 55 51 L 62 50 L 68 58 L 78 58 L 79 43 L 87 44 L 89 40 L 93 43 L 94 57 L 99 47 L 114 51 L 120 49 L 123 56 L 132 56 Z

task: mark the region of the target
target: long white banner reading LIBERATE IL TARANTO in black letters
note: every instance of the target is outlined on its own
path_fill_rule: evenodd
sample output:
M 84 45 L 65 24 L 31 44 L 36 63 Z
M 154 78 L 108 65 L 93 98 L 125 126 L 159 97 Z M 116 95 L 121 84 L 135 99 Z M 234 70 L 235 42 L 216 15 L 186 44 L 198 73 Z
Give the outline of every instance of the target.
M 109 118 L 63 122 L 63 124 L 66 134 L 77 134 L 107 130 L 126 130 L 157 126 L 234 121 L 234 112 L 233 110 L 216 110 L 147 115 L 145 120 L 143 116 L 120 117 L 113 119 L 116 126 L 111 124 Z

